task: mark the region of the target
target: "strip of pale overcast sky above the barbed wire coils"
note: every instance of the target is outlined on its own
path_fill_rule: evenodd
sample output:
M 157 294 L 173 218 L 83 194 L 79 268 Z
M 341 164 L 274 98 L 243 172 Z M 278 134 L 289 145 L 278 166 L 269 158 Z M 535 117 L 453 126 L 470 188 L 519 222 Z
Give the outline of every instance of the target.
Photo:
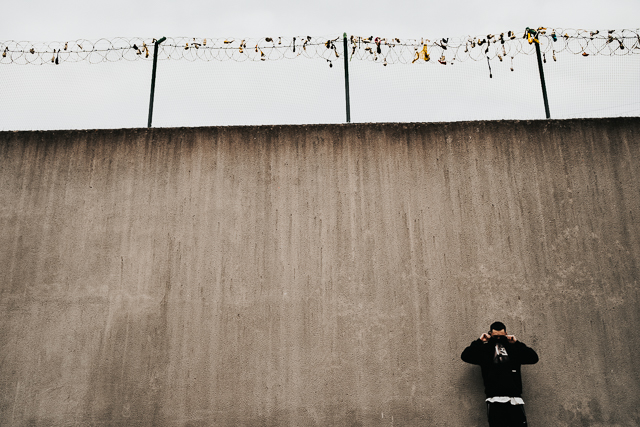
M 525 27 L 638 28 L 640 0 L 4 2 L 0 40 L 333 35 L 457 37 Z

